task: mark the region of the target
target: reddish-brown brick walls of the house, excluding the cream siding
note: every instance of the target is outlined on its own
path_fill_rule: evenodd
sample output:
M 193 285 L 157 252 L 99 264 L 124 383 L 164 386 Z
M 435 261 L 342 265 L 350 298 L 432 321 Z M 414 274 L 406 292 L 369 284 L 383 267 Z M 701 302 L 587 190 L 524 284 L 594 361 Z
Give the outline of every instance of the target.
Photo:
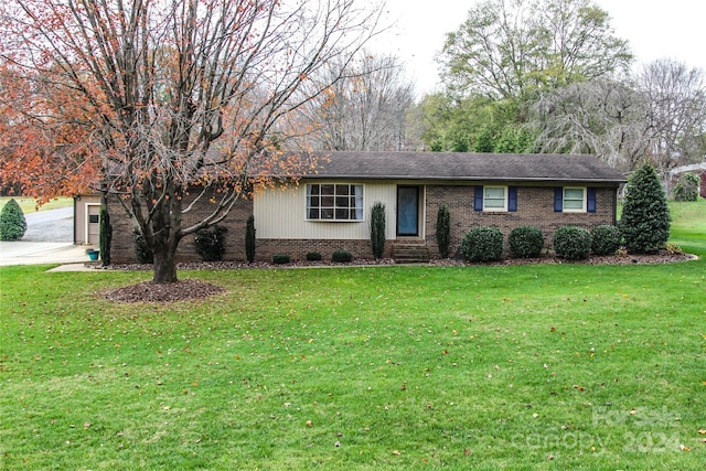
M 614 224 L 616 189 L 605 188 L 596 191 L 596 213 L 555 213 L 554 188 L 518 186 L 517 211 L 513 213 L 488 213 L 473 211 L 473 186 L 468 185 L 427 185 L 426 189 L 426 243 L 431 257 L 438 257 L 436 243 L 436 220 L 440 204 L 447 204 L 451 213 L 450 254 L 458 253 L 463 235 L 477 226 L 495 226 L 505 235 L 518 226 L 539 227 L 550 247 L 552 235 L 560 226 L 576 225 L 590 229 L 601 224 Z M 204 203 L 208 204 L 208 203 Z M 116 264 L 135 261 L 132 248 L 132 223 L 125 210 L 115 199 L 108 200 L 108 211 L 113 223 L 111 257 Z M 221 223 L 228 232 L 225 234 L 225 260 L 245 260 L 245 224 L 253 213 L 252 201 L 239 201 L 226 220 Z M 184 215 L 184 225 L 199 221 L 206 214 L 205 207 L 196 207 Z M 387 217 L 395 217 L 388 215 Z M 257 221 L 255 221 L 257 229 Z M 393 242 L 388 240 L 385 256 L 389 257 Z M 308 239 L 257 239 L 255 256 L 258 260 L 271 260 L 272 255 L 286 254 L 295 260 L 304 260 L 307 253 L 318 251 L 325 260 L 333 251 L 347 250 L 355 258 L 372 258 L 370 239 L 365 240 L 308 240 Z M 193 245 L 193 235 L 182 239 L 176 253 L 179 261 L 199 261 Z

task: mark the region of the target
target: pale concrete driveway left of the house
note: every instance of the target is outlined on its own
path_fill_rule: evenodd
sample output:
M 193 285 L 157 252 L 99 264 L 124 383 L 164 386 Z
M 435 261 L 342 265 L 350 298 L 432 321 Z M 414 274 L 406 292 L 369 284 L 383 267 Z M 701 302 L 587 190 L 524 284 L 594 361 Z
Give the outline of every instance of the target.
M 22 240 L 0 242 L 0 266 L 88 261 L 89 247 L 73 243 L 73 207 L 28 213 L 24 218 L 28 227 Z

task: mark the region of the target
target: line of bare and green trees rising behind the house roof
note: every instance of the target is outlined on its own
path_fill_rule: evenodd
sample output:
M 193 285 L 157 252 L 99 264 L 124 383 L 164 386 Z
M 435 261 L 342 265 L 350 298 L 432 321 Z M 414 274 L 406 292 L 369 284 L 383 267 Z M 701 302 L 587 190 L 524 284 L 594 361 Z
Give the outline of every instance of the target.
M 704 72 L 635 66 L 591 0 L 479 2 L 442 44 L 442 89 L 417 103 L 398 60 L 365 54 L 310 114 L 318 148 L 580 152 L 661 174 L 706 156 Z

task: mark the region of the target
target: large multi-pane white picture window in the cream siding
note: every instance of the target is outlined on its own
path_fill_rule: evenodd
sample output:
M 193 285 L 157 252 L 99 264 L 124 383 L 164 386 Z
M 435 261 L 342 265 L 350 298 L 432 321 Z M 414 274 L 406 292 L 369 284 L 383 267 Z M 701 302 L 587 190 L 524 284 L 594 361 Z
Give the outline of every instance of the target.
M 363 185 L 307 184 L 307 221 L 363 221 Z

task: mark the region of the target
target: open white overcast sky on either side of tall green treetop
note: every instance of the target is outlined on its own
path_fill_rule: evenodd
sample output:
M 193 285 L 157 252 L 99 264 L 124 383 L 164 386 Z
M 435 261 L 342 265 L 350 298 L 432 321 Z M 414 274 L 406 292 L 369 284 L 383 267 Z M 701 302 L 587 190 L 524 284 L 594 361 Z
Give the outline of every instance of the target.
M 384 21 L 396 22 L 374 50 L 398 55 L 418 94 L 437 87 L 434 57 L 479 0 L 386 0 Z M 706 72 L 706 2 L 595 0 L 611 15 L 616 35 L 629 41 L 638 64 L 668 57 Z

